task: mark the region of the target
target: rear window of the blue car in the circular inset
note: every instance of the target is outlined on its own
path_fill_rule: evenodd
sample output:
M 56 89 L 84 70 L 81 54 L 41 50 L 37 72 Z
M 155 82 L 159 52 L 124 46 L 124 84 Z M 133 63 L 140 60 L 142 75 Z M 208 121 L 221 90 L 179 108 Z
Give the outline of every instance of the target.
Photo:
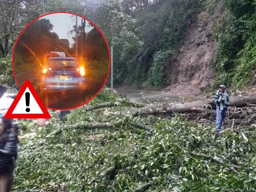
M 77 61 L 70 60 L 50 60 L 46 64 L 48 67 L 52 69 L 64 69 L 64 68 L 76 68 L 79 67 L 79 63 Z

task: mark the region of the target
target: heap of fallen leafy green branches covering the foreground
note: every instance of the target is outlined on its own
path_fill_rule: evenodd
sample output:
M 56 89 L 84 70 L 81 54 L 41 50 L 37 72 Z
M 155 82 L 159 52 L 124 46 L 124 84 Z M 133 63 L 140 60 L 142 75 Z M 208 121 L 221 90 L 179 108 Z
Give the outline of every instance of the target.
M 213 108 L 208 102 L 200 110 Z M 65 124 L 52 118 L 22 141 L 15 190 L 255 191 L 255 127 L 216 134 L 175 113 L 185 105 L 195 115 L 194 104 L 143 106 L 117 98 L 74 109 Z

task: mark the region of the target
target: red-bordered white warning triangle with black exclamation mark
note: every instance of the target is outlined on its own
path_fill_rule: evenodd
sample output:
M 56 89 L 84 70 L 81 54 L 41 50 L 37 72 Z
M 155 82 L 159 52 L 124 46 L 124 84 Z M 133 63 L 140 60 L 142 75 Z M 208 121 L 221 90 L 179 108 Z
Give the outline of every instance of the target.
M 29 80 L 26 80 L 11 107 L 5 114 L 6 119 L 49 119 L 50 114 Z

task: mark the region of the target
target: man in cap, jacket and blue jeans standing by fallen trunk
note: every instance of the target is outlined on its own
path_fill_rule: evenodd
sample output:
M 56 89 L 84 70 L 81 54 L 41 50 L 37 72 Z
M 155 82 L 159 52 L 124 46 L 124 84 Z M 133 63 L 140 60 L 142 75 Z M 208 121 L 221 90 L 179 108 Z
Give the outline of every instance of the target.
M 213 102 L 216 105 L 216 129 L 221 131 L 222 122 L 225 119 L 226 111 L 230 105 L 228 93 L 225 85 L 220 85 L 220 90 L 214 95 Z

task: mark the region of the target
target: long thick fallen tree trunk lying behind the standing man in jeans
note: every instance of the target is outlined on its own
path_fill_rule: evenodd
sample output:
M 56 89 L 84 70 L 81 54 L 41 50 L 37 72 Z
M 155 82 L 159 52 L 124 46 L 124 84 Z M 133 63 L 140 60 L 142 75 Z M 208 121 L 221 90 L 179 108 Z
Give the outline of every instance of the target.
M 236 107 L 244 107 L 251 104 L 256 104 L 256 97 L 254 96 L 246 96 L 246 97 L 230 97 L 230 106 Z M 107 112 L 108 115 L 150 115 L 150 114 L 163 114 L 163 113 L 202 113 L 206 110 L 199 110 L 199 108 L 204 109 L 213 109 L 215 108 L 212 99 L 203 100 L 203 101 L 194 101 L 185 104 L 176 104 L 176 105 L 150 105 L 146 107 L 142 107 L 139 109 L 129 109 L 125 111 L 119 112 Z

